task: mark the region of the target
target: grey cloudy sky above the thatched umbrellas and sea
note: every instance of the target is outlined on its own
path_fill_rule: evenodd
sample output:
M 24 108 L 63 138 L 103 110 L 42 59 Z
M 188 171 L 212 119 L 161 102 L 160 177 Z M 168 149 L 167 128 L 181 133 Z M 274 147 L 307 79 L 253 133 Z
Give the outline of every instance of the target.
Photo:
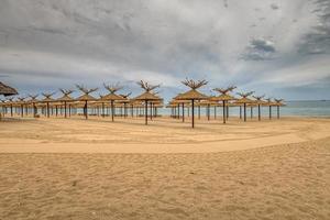
M 0 80 L 22 95 L 144 79 L 169 98 L 186 77 L 330 99 L 330 0 L 0 0 Z

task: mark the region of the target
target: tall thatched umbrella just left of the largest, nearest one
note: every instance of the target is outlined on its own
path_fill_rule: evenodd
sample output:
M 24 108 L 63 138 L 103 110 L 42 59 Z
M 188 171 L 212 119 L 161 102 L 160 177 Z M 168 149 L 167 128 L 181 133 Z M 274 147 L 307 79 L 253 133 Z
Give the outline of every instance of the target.
M 136 101 L 144 101 L 144 108 L 145 108 L 145 124 L 147 124 L 147 103 L 150 101 L 158 101 L 158 100 L 162 100 L 158 96 L 152 94 L 152 91 L 156 88 L 158 88 L 161 85 L 155 85 L 155 86 L 152 86 L 150 85 L 148 82 L 146 81 L 139 81 L 138 85 L 141 86 L 142 89 L 144 89 L 144 92 L 138 97 L 135 97 L 133 100 L 136 100 Z

